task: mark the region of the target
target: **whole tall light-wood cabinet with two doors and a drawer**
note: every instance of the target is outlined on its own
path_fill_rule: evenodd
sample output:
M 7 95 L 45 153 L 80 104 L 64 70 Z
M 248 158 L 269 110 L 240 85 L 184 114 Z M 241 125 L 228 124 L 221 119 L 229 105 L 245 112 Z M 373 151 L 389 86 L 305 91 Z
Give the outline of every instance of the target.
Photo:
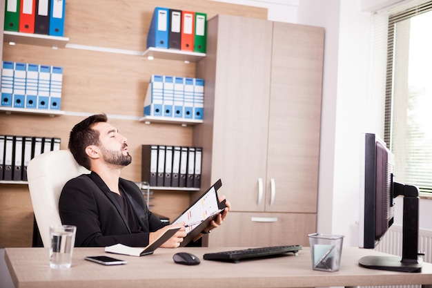
M 324 29 L 218 15 L 208 21 L 202 186 L 232 204 L 210 246 L 302 244 L 316 230 Z M 245 237 L 246 236 L 246 237 Z

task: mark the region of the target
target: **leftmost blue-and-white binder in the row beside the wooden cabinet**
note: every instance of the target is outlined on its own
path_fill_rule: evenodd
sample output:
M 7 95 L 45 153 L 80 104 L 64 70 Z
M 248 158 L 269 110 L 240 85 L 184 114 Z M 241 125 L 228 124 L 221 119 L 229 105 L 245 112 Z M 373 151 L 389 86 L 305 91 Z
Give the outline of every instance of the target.
M 164 102 L 164 76 L 152 75 L 144 99 L 144 116 L 162 116 Z

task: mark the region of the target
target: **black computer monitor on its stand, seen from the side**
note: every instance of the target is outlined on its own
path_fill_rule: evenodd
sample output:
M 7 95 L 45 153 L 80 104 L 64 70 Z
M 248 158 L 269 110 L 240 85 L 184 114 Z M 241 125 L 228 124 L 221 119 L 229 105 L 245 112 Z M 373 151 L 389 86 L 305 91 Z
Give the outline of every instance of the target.
M 362 134 L 360 141 L 360 218 L 359 247 L 373 249 L 393 224 L 394 202 L 404 197 L 402 220 L 402 258 L 365 256 L 359 265 L 370 269 L 420 272 L 418 259 L 419 191 L 395 182 L 394 155 L 386 143 L 373 133 Z

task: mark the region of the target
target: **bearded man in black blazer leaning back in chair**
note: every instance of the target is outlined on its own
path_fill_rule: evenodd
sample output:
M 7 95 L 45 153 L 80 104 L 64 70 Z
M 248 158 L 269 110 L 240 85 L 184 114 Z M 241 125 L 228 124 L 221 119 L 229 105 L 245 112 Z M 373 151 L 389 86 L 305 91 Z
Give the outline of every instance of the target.
M 69 149 L 90 174 L 69 180 L 61 191 L 61 222 L 77 226 L 75 246 L 106 247 L 125 244 L 146 247 L 167 227 L 180 227 L 161 247 L 175 248 L 186 237 L 185 223 L 164 224 L 148 210 L 138 186 L 120 177 L 121 169 L 132 162 L 127 139 L 108 124 L 105 114 L 92 115 L 70 131 Z M 220 201 L 225 197 L 221 196 Z M 217 228 L 226 217 L 222 214 L 203 230 Z

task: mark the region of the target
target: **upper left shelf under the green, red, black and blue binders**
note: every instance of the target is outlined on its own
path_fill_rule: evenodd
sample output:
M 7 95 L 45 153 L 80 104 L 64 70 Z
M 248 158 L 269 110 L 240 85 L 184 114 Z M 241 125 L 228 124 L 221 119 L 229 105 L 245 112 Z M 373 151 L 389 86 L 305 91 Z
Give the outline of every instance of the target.
M 58 37 L 50 35 L 22 33 L 22 32 L 3 32 L 3 42 L 28 44 L 37 46 L 48 46 L 52 48 L 64 48 L 68 43 L 68 37 Z

